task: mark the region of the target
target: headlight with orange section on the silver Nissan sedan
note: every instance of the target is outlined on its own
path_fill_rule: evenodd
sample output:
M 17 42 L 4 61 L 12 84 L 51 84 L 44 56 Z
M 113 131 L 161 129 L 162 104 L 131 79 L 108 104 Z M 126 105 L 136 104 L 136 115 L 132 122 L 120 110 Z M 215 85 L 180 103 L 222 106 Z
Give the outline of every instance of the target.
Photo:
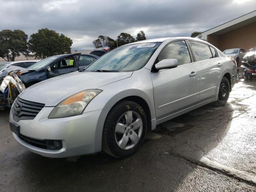
M 90 103 L 90 101 L 100 92 L 102 92 L 100 89 L 88 89 L 76 93 L 54 107 L 48 118 L 62 118 L 80 115 L 83 113 L 88 103 Z

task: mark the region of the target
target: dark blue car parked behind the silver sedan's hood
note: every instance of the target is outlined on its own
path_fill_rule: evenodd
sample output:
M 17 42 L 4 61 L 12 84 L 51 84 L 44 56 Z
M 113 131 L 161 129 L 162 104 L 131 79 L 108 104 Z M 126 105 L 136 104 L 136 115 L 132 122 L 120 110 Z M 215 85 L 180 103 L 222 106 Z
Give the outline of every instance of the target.
M 99 56 L 81 53 L 51 56 L 22 70 L 21 80 L 29 87 L 48 78 L 84 69 L 97 58 Z

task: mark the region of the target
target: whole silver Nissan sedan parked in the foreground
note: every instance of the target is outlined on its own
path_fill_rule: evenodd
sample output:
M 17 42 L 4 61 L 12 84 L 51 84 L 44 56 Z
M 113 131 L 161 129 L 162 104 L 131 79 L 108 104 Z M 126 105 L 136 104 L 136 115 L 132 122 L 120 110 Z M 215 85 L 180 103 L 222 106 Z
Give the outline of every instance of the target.
M 208 103 L 224 106 L 236 65 L 194 38 L 118 47 L 88 68 L 29 87 L 10 112 L 14 138 L 42 156 L 106 153 L 124 158 L 146 131 Z

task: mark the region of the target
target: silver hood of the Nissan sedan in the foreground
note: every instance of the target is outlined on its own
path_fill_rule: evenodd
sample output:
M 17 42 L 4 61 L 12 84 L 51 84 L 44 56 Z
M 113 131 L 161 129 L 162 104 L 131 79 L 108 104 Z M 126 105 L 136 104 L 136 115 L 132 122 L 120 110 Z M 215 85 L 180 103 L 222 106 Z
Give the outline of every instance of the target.
M 96 89 L 125 78 L 132 72 L 73 72 L 39 82 L 19 97 L 45 106 L 56 106 L 67 97 L 87 89 Z

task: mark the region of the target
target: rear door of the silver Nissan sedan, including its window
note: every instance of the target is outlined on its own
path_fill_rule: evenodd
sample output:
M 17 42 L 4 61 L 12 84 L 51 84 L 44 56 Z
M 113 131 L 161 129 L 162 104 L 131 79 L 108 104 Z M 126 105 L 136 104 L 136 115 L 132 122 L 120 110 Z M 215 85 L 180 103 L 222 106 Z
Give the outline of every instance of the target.
M 188 42 L 198 68 L 200 102 L 204 102 L 216 97 L 222 63 L 218 52 L 212 46 L 194 40 Z

